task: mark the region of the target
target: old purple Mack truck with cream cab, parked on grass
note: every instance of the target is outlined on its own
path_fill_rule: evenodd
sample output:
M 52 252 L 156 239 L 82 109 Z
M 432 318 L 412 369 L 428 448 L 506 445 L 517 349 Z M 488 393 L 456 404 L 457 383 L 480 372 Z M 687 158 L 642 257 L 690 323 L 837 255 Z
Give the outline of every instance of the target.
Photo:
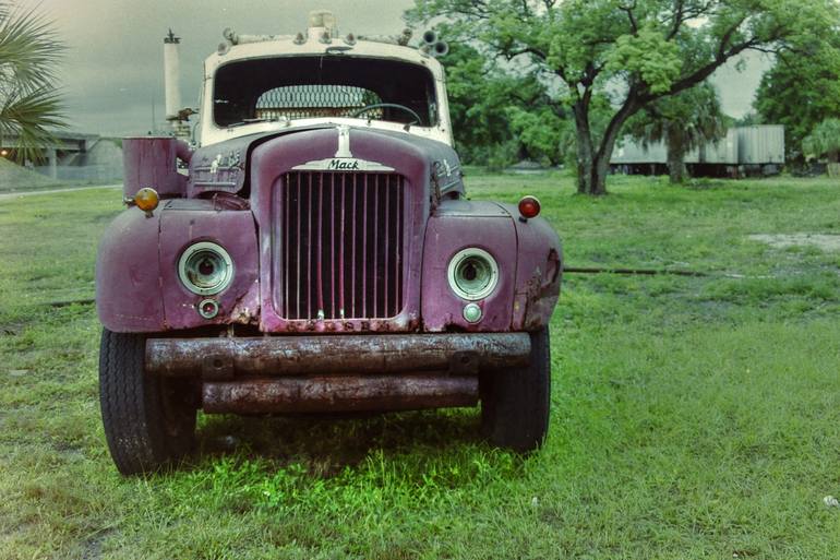
M 324 11 L 295 36 L 224 37 L 192 142 L 123 141 L 128 208 L 96 263 L 117 468 L 183 458 L 200 409 L 480 403 L 491 445 L 538 449 L 561 245 L 533 196 L 467 198 L 435 58 L 446 44 L 341 36 Z M 165 43 L 182 127 L 178 37 Z

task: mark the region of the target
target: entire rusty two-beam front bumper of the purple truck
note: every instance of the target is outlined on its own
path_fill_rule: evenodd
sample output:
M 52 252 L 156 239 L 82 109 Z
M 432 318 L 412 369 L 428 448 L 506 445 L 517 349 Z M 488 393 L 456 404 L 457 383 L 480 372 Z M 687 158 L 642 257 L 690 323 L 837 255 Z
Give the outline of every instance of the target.
M 146 371 L 202 381 L 207 413 L 473 406 L 478 372 L 529 364 L 527 333 L 149 338 Z

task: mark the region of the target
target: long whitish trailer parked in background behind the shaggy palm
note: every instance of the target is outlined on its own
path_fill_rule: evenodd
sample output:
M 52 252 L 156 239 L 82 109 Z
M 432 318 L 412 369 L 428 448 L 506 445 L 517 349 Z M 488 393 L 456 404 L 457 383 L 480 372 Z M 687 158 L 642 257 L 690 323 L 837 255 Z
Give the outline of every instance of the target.
M 652 175 L 664 174 L 667 147 L 656 142 L 645 147 L 625 136 L 613 152 L 611 167 L 617 172 Z M 685 156 L 692 175 L 742 177 L 745 175 L 776 175 L 784 165 L 784 127 L 760 124 L 734 127 L 718 142 L 708 142 Z

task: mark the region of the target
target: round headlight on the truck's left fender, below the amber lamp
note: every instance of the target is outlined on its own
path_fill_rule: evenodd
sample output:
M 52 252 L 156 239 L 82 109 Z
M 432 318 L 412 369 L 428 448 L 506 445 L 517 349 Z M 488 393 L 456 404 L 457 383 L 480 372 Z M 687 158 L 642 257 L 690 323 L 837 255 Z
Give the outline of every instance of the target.
M 233 263 L 228 252 L 216 243 L 191 245 L 178 261 L 178 276 L 193 294 L 212 296 L 230 285 Z

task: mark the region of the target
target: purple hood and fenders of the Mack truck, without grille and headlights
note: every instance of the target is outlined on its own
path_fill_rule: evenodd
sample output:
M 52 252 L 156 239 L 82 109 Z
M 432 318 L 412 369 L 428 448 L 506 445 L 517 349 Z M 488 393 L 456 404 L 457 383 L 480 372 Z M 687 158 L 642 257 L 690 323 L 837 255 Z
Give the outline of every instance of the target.
M 125 193 L 151 186 L 164 200 L 151 215 L 128 208 L 106 231 L 96 273 L 101 323 L 125 333 L 242 324 L 271 334 L 502 333 L 548 324 L 560 291 L 562 253 L 556 234 L 542 218 L 519 219 L 515 206 L 466 200 L 457 156 L 445 144 L 364 129 L 349 133 L 356 157 L 405 178 L 404 305 L 398 313 L 287 319 L 278 305 L 284 271 L 277 222 L 296 210 L 284 208 L 278 193 L 296 166 L 333 157 L 338 131 L 329 127 L 238 139 L 191 157 L 179 147 L 190 158 L 189 177 L 177 172 L 177 141 L 127 142 Z M 219 154 L 226 163 L 237 163 L 211 174 L 211 162 Z M 437 171 L 443 160 L 449 175 Z M 211 320 L 196 312 L 204 297 L 188 290 L 177 274 L 184 249 L 203 240 L 227 249 L 236 263 L 232 283 L 216 298 L 219 313 Z M 463 317 L 465 301 L 449 288 L 446 275 L 447 263 L 465 247 L 484 249 L 501 263 L 497 287 L 478 301 L 482 320 L 477 323 Z

